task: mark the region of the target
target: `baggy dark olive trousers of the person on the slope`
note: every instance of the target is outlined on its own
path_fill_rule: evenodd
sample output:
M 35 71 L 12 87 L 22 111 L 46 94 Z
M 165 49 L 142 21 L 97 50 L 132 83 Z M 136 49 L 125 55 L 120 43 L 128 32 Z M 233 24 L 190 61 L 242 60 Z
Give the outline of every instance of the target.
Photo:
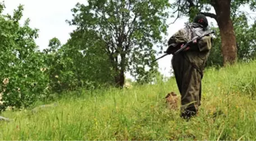
M 198 112 L 202 95 L 202 73 L 182 53 L 173 55 L 171 63 L 181 94 L 181 111 Z

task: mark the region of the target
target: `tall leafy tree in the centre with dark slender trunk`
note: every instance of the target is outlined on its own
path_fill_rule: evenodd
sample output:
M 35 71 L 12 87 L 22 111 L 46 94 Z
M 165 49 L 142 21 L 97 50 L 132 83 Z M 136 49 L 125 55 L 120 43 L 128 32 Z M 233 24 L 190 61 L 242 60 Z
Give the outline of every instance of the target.
M 88 3 L 88 6 L 77 3 L 72 9 L 74 19 L 68 23 L 77 26 L 73 34 L 79 33 L 80 40 L 84 40 L 81 42 L 84 44 L 77 46 L 85 53 L 104 51 L 111 63 L 109 67 L 115 72 L 116 86 L 124 85 L 124 74 L 129 69 L 136 79 L 142 78 L 137 74 L 156 72 L 157 63 L 150 61 L 155 59 L 153 44 L 162 44 L 161 34 L 167 31 L 168 14 L 164 10 L 170 7 L 168 0 L 89 0 Z M 162 49 L 162 45 L 158 47 Z

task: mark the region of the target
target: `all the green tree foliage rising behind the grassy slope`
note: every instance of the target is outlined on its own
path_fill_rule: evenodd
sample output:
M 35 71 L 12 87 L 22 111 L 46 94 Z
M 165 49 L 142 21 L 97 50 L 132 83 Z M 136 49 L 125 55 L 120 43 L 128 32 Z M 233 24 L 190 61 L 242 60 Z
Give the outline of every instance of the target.
M 71 39 L 61 44 L 53 37 L 43 52 L 34 41 L 38 29 L 29 27 L 29 19 L 20 26 L 22 6 L 13 16 L 0 16 L 0 80 L 3 81 L 0 112 L 8 106 L 29 107 L 35 101 L 46 100 L 50 93 L 62 94 L 81 88 L 92 92 L 116 84 L 122 86 L 126 72 L 135 78 L 132 84 L 162 84 L 158 64 L 151 61 L 156 59 L 154 47 L 162 51 L 166 45 L 163 35 L 167 31 L 168 1 L 89 0 L 88 3 L 88 6 L 77 3 L 72 9 L 74 18 L 68 23 L 77 29 L 70 34 Z M 194 7 L 190 7 L 189 1 L 178 1 L 176 6 L 181 8 L 181 14 L 191 16 L 202 10 L 209 11 L 207 3 L 195 1 Z M 245 3 L 248 2 L 234 1 L 232 8 Z M 251 8 L 254 4 L 250 2 Z M 184 8 L 186 6 L 190 8 Z M 3 10 L 4 4 L 0 4 L 0 12 Z M 253 59 L 256 24 L 248 25 L 243 12 L 232 14 L 239 59 Z M 222 65 L 220 32 L 212 28 L 217 30 L 217 36 L 208 59 L 210 67 Z M 254 81 L 252 79 L 252 83 Z M 246 81 L 241 87 L 248 93 L 255 90 L 254 85 L 248 86 Z

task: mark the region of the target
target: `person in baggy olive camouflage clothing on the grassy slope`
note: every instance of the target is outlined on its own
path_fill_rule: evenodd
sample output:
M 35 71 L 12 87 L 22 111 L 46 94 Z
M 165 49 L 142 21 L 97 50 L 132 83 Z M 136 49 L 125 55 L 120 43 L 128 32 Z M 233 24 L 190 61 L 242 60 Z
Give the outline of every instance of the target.
M 183 29 L 170 37 L 168 45 L 176 44 L 181 48 L 194 36 L 204 34 L 208 30 L 207 27 L 207 18 L 204 15 L 197 15 L 194 17 L 193 23 L 186 24 Z M 204 36 L 172 57 L 172 68 L 181 94 L 181 117 L 185 119 L 195 116 L 201 105 L 201 81 L 211 48 L 212 36 Z M 171 49 L 168 48 L 166 53 L 172 54 Z

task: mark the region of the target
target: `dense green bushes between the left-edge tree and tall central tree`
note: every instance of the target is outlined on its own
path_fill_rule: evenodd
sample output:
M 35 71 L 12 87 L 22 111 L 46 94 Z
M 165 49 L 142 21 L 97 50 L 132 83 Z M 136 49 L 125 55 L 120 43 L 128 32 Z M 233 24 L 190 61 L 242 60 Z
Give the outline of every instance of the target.
M 74 36 L 76 35 L 71 35 Z M 53 92 L 71 91 L 80 87 L 97 88 L 106 83 L 111 84 L 111 68 L 108 67 L 106 57 L 100 56 L 100 50 L 95 49 L 94 53 L 84 54 L 84 50 L 75 48 L 75 45 L 81 44 L 80 41 L 70 40 L 67 44 L 61 45 L 54 37 L 49 42 L 49 49 L 44 50 Z

